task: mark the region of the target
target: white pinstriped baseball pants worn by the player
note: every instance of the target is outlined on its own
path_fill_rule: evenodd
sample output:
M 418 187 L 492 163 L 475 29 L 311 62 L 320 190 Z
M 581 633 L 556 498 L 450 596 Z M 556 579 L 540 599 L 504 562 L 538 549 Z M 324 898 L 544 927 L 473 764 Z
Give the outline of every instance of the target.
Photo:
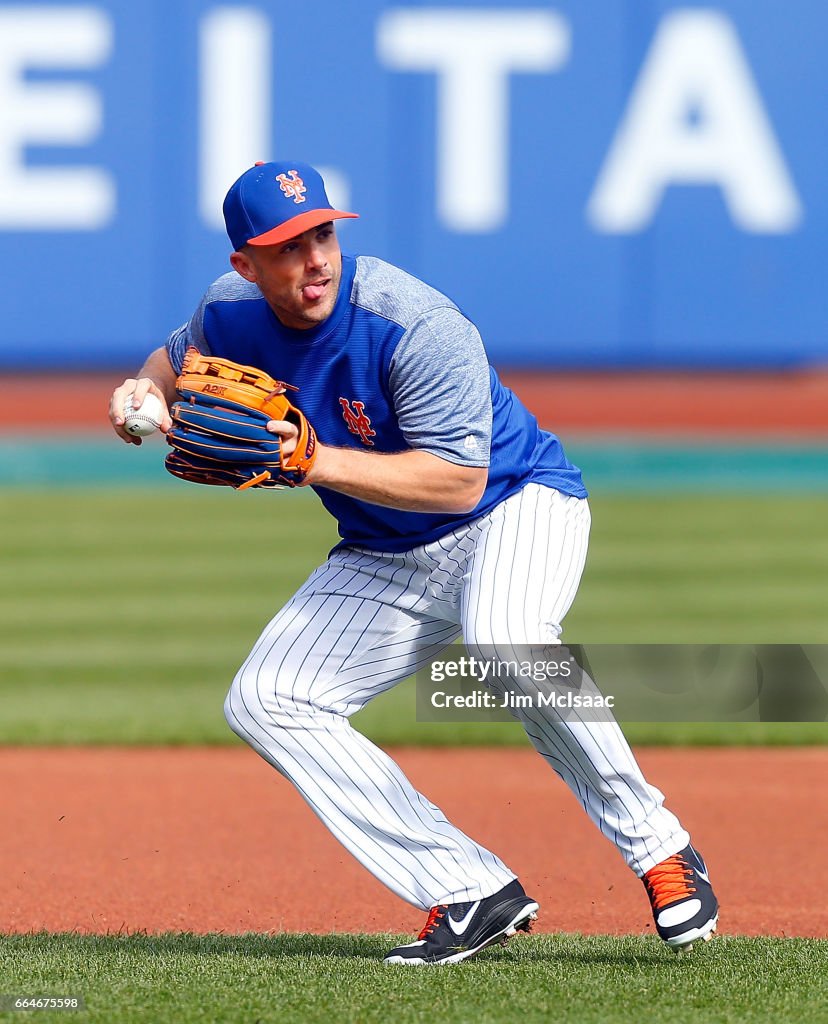
M 268 624 L 233 680 L 224 706 L 233 731 L 416 906 L 483 899 L 515 874 L 348 719 L 461 632 L 471 653 L 557 642 L 589 532 L 585 500 L 530 483 L 412 551 L 337 551 Z M 564 721 L 553 708 L 516 713 L 636 873 L 687 846 L 614 722 Z

